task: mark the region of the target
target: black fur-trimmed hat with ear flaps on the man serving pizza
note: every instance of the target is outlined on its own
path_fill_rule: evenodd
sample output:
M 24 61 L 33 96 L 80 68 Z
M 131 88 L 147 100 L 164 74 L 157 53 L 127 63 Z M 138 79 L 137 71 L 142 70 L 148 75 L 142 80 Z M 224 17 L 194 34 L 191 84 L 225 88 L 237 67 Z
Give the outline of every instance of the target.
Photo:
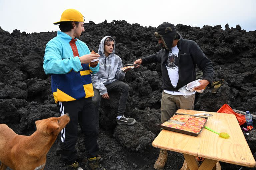
M 163 24 L 159 25 L 156 29 L 156 32 L 155 32 L 155 37 L 157 39 L 162 39 L 163 40 L 163 43 L 164 43 L 164 46 L 167 50 L 172 50 L 172 43 L 173 43 L 173 40 L 176 36 L 176 29 L 175 27 L 168 23 L 168 22 L 164 22 Z

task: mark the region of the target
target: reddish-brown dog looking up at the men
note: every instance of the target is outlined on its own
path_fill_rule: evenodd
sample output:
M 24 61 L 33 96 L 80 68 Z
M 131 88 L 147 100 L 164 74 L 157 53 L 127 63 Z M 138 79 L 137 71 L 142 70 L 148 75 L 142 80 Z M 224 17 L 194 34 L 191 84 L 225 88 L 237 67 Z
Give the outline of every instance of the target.
M 18 135 L 6 124 L 0 124 L 0 170 L 43 170 L 46 154 L 68 122 L 68 113 L 37 120 L 31 136 Z

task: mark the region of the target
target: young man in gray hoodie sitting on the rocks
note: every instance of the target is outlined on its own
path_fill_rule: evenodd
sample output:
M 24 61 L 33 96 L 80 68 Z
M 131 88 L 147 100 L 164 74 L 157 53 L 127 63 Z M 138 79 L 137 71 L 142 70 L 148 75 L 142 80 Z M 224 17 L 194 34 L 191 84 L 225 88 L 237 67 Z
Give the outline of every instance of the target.
M 124 79 L 125 73 L 130 69 L 124 71 L 121 69 L 123 63 L 121 58 L 115 55 L 115 40 L 110 36 L 106 36 L 101 40 L 98 54 L 100 55 L 100 70 L 97 74 L 91 74 L 94 91 L 92 100 L 95 106 L 97 127 L 99 127 L 101 98 L 109 99 L 108 91 L 110 90 L 119 90 L 121 92 L 116 122 L 118 124 L 132 125 L 136 122 L 135 119 L 124 116 L 130 87 L 121 81 Z

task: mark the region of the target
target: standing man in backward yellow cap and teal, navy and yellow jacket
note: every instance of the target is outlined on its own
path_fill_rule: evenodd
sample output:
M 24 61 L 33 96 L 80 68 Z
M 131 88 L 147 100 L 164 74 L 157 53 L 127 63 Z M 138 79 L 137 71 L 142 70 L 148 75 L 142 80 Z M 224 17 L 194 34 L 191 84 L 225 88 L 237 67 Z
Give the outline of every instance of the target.
M 59 24 L 61 31 L 46 45 L 43 68 L 51 75 L 52 93 L 61 115 L 70 115 L 70 122 L 61 131 L 61 159 L 68 169 L 78 168 L 75 145 L 79 123 L 88 157 L 86 169 L 105 170 L 99 163 L 98 129 L 92 102 L 91 73 L 98 72 L 99 64 L 91 62 L 99 55 L 90 54 L 87 45 L 78 40 L 84 32 L 84 17 L 79 11 L 65 10 L 54 24 Z

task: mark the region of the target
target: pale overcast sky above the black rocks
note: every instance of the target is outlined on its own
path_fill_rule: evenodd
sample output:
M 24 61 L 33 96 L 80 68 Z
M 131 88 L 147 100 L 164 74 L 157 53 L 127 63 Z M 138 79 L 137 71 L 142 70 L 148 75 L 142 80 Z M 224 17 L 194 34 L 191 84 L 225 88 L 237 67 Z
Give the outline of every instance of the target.
M 61 14 L 68 8 L 79 10 L 85 22 L 96 24 L 125 20 L 141 26 L 157 27 L 163 22 L 202 28 L 204 25 L 256 30 L 255 0 L 0 0 L 0 26 L 12 33 L 57 31 Z

